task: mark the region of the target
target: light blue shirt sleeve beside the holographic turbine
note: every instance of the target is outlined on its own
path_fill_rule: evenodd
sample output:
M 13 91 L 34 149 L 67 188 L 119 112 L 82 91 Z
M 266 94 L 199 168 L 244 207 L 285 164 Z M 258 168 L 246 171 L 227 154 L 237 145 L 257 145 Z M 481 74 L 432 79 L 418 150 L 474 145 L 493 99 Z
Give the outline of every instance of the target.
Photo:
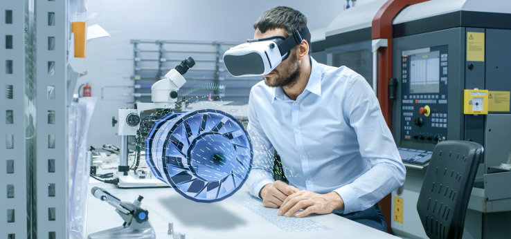
M 274 166 L 274 146 L 271 145 L 259 124 L 258 115 L 255 111 L 255 104 L 257 104 L 258 99 L 253 97 L 253 91 L 252 89 L 249 97 L 249 126 L 247 127 L 252 142 L 253 160 L 252 169 L 246 184 L 249 187 L 250 194 L 260 198 L 259 192 L 262 187 L 275 182 L 272 171 Z

